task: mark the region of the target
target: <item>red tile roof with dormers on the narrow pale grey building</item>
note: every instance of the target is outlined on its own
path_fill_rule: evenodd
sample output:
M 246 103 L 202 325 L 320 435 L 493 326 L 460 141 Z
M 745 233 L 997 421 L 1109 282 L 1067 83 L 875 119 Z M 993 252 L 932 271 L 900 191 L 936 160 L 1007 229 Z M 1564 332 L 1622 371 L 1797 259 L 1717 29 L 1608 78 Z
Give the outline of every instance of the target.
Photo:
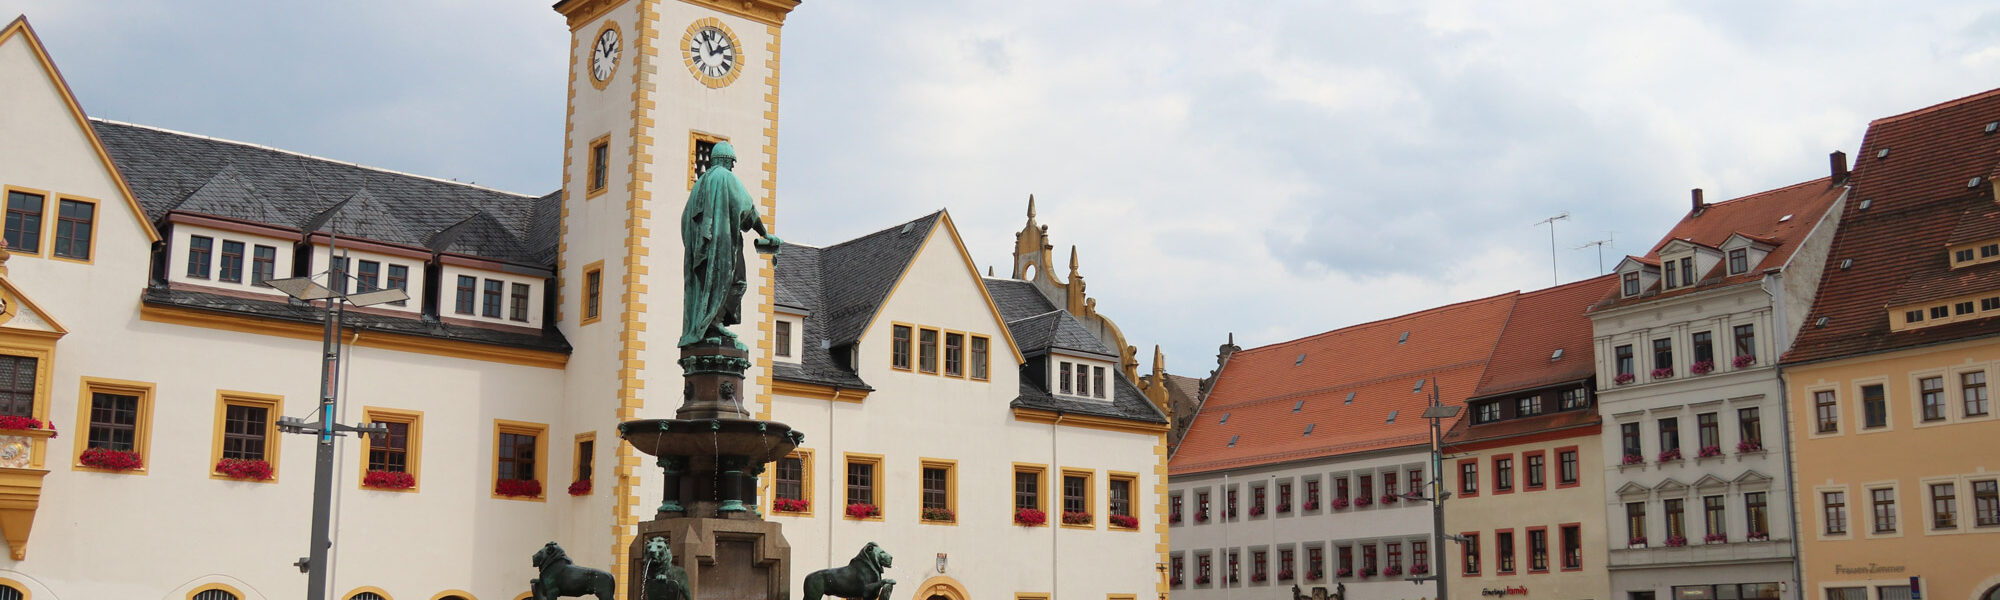
M 1764 254 L 1764 260 L 1748 272 L 1728 276 L 1728 260 L 1720 260 L 1710 272 L 1702 274 L 1694 286 L 1662 292 L 1660 286 L 1654 284 L 1636 298 L 1620 298 L 1616 290 L 1612 290 L 1612 294 L 1606 294 L 1604 302 L 1598 302 L 1592 310 L 1630 306 L 1660 298 L 1696 294 L 1716 286 L 1754 282 L 1762 278 L 1766 270 L 1784 268 L 1784 262 L 1792 260 L 1792 252 L 1798 250 L 1800 240 L 1812 232 L 1812 226 L 1826 216 L 1826 210 L 1834 206 L 1834 200 L 1840 200 L 1842 192 L 1846 192 L 1846 188 L 1832 178 L 1818 178 L 1736 200 L 1708 204 L 1702 212 L 1688 212 L 1688 216 L 1680 218 L 1680 224 L 1674 224 L 1674 230 L 1666 232 L 1666 236 L 1660 238 L 1660 242 L 1654 244 L 1646 256 L 1634 258 L 1646 264 L 1658 264 L 1660 248 L 1666 248 L 1666 244 L 1674 240 L 1720 248 L 1722 242 L 1728 242 L 1734 234 L 1744 234 L 1776 248 L 1772 248 L 1770 254 Z

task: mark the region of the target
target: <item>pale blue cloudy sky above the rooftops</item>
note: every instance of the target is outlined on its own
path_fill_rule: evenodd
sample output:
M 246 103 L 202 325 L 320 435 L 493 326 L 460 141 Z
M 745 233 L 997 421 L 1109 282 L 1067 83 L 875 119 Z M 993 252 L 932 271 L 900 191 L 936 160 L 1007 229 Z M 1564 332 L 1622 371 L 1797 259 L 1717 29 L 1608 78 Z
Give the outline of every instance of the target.
M 672 0 L 668 0 L 672 2 Z M 548 0 L 26 12 L 92 116 L 542 194 Z M 836 2 L 786 22 L 780 234 L 950 208 L 1006 270 L 1028 194 L 1170 368 L 1598 272 L 1688 188 L 1826 174 L 1872 118 L 2000 86 L 1990 2 Z M 1062 248 L 1058 246 L 1058 252 Z

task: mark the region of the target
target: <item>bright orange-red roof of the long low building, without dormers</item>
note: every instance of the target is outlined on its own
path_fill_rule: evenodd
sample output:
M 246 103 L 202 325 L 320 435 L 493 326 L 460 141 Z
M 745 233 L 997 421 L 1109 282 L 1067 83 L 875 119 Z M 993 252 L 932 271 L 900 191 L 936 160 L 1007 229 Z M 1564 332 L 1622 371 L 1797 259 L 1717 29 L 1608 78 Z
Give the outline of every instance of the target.
M 1428 444 L 1430 422 L 1422 412 L 1432 384 L 1418 392 L 1416 382 L 1434 380 L 1444 404 L 1472 396 L 1518 296 L 1508 292 L 1236 352 L 1174 452 L 1170 472 Z M 1306 426 L 1314 428 L 1310 436 Z

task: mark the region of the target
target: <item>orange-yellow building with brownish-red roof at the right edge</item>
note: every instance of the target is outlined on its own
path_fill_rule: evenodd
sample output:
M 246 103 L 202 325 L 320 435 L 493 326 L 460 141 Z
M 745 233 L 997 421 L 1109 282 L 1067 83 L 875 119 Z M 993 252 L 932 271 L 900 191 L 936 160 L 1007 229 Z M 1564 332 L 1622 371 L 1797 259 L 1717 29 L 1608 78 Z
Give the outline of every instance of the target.
M 1868 124 L 1784 358 L 1804 594 L 2000 598 L 2000 90 Z

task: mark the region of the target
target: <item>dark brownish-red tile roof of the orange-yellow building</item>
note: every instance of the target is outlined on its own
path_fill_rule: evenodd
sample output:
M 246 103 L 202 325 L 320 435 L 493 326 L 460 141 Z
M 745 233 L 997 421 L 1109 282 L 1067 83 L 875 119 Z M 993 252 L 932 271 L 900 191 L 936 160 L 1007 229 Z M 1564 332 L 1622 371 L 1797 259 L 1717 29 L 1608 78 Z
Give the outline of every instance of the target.
M 1992 284 L 1982 264 L 1950 272 L 1944 244 L 1968 210 L 1994 202 L 1992 184 L 1968 188 L 2000 164 L 2000 90 L 1988 90 L 1868 124 L 1854 166 L 1854 194 L 1826 256 L 1826 276 L 1798 342 L 1784 362 L 1814 362 L 1922 344 L 2000 334 L 2000 322 L 1980 318 L 1890 332 L 1890 300 L 1944 298 L 1984 292 Z M 1888 156 L 1876 154 L 1888 150 Z M 1862 210 L 1860 202 L 1870 202 Z M 1854 266 L 1842 270 L 1840 262 Z M 1826 326 L 1816 326 L 1818 318 Z

